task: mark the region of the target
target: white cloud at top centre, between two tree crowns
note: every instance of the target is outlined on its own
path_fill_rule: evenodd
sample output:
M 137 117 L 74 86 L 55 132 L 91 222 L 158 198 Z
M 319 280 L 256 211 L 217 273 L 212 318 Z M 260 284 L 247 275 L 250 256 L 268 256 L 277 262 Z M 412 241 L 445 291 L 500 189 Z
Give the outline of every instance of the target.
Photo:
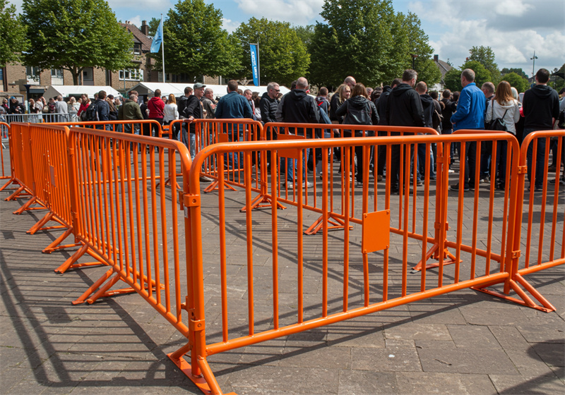
M 235 0 L 239 9 L 256 18 L 285 20 L 294 25 L 306 25 L 319 18 L 323 0 Z

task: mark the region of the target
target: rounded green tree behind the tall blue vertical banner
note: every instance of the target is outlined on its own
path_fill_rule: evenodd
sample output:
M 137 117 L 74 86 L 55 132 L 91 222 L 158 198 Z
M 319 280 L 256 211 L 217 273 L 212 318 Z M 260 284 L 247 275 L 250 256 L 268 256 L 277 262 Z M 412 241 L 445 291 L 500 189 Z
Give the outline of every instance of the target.
M 249 44 L 257 42 L 263 85 L 270 81 L 290 85 L 292 80 L 306 74 L 310 56 L 290 23 L 251 18 L 248 23 L 239 25 L 234 35 L 242 43 L 242 75 L 251 75 Z

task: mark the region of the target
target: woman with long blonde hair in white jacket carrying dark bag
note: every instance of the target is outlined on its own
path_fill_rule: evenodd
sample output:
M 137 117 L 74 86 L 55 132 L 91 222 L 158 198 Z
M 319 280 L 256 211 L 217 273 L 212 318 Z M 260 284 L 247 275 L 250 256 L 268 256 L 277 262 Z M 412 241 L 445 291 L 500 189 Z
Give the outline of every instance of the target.
M 493 121 L 500 123 L 506 126 L 508 133 L 516 135 L 516 123 L 519 119 L 520 105 L 518 100 L 514 99 L 510 84 L 507 81 L 501 81 L 499 86 L 496 87 L 494 97 L 488 103 L 485 121 L 487 125 Z M 507 150 L 506 141 L 499 141 L 496 144 L 496 168 L 498 169 L 496 188 L 500 190 L 504 190 L 505 186 Z

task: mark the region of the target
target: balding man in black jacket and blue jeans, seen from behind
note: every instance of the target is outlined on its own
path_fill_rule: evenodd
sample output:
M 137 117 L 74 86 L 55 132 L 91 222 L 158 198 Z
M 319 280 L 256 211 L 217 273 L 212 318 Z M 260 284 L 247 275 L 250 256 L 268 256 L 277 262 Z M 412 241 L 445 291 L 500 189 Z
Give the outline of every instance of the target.
M 281 102 L 283 122 L 287 123 L 320 123 L 320 115 L 316 99 L 307 95 L 308 80 L 300 77 L 296 81 L 296 89 L 291 90 L 285 95 L 284 102 Z M 306 135 L 307 138 L 313 138 L 313 130 L 304 128 L 288 128 L 289 133 L 297 135 Z M 314 183 L 306 179 L 306 167 L 308 163 L 308 155 L 310 149 L 307 149 L 302 156 L 302 179 L 304 186 L 314 186 Z M 298 160 L 286 159 L 287 162 L 287 189 L 294 188 L 295 171 L 297 171 Z

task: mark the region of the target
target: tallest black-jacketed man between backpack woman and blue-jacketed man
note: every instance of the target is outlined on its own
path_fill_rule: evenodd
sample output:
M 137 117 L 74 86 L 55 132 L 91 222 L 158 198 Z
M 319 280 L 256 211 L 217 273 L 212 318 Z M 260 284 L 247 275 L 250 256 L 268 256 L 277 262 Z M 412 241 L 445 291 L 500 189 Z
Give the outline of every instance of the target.
M 402 83 L 397 85 L 388 95 L 386 101 L 386 123 L 391 126 L 424 126 L 424 110 L 420 95 L 414 90 L 418 73 L 412 69 L 405 70 Z M 391 133 L 399 135 L 398 132 Z M 405 133 L 406 134 L 406 133 Z M 405 152 L 410 155 L 410 150 Z M 398 173 L 400 171 L 400 145 L 391 146 L 391 193 L 398 192 Z

